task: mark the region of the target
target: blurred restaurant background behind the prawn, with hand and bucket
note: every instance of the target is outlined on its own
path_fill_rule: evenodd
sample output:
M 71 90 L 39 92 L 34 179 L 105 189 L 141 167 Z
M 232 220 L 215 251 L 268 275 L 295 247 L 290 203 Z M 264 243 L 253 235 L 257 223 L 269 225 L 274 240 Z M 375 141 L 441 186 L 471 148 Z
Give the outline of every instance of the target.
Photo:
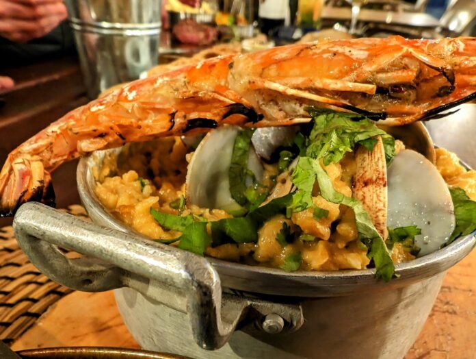
M 69 110 L 163 64 L 393 35 L 475 36 L 476 1 L 0 0 L 0 164 Z M 79 203 L 75 166 L 53 176 L 60 208 Z

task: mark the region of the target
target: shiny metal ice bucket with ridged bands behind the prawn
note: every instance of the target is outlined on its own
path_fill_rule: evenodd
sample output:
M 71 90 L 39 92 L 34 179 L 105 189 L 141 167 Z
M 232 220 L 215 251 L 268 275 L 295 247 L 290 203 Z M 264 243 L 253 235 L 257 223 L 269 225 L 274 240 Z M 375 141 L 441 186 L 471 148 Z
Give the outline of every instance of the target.
M 161 0 L 65 0 L 88 96 L 157 64 Z

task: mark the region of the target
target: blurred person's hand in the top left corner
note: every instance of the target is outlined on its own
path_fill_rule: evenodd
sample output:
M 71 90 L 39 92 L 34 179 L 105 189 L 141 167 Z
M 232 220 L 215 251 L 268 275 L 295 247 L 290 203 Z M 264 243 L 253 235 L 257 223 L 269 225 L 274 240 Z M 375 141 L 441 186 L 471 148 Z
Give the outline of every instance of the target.
M 0 36 L 14 42 L 40 38 L 67 15 L 62 0 L 0 0 Z

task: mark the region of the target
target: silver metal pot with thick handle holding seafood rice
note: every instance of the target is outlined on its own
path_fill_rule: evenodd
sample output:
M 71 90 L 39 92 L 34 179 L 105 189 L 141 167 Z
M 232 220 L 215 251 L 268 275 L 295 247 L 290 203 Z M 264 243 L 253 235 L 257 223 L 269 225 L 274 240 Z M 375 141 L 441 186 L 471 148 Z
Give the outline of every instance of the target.
M 375 280 L 374 269 L 285 273 L 202 258 L 133 232 L 98 201 L 93 169 L 117 151 L 78 166 L 94 223 L 27 203 L 14 230 L 52 280 L 77 290 L 116 289 L 124 323 L 144 349 L 192 358 L 402 358 L 445 271 L 476 245 L 466 236 L 398 264 L 390 283 Z M 68 259 L 59 248 L 84 257 Z

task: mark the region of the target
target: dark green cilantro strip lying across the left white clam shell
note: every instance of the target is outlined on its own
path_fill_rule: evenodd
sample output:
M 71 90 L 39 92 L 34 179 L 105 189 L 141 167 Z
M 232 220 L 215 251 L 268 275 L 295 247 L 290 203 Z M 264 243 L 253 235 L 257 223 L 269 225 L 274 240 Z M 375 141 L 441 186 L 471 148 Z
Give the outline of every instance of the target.
M 230 180 L 230 194 L 240 206 L 245 206 L 248 200 L 245 196 L 246 177 L 248 176 L 248 156 L 250 152 L 251 136 L 254 129 L 244 129 L 235 139 L 235 146 L 231 156 L 228 177 Z

